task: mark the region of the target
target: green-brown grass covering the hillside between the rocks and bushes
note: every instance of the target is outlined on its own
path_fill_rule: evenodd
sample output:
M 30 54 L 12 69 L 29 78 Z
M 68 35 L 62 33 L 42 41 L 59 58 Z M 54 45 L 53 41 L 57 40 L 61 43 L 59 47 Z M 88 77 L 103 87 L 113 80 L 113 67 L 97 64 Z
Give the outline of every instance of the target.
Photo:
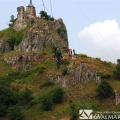
M 47 53 L 46 53 L 47 54 Z M 34 97 L 37 97 L 38 94 L 46 91 L 49 88 L 41 88 L 41 84 L 46 79 L 46 75 L 49 73 L 59 73 L 61 74 L 62 67 L 60 70 L 57 70 L 56 63 L 52 59 L 52 56 L 44 55 L 44 57 L 48 58 L 44 62 L 38 64 L 37 66 L 44 66 L 45 72 L 39 74 L 37 71 L 32 72 L 27 77 L 22 77 L 19 80 L 12 82 L 12 87 L 14 88 L 29 88 L 33 91 Z M 80 61 L 86 61 L 89 65 L 93 66 L 93 68 L 97 69 L 98 71 L 106 72 L 111 74 L 112 70 L 114 69 L 115 65 L 109 64 L 106 62 L 102 62 L 100 60 L 78 56 L 76 60 L 72 60 L 71 64 L 76 65 Z M 5 75 L 12 71 L 9 65 L 6 65 L 4 62 L 0 62 L 0 76 Z M 109 80 L 110 84 L 114 89 L 120 89 L 120 81 L 117 80 Z M 69 105 L 71 102 L 79 102 L 78 104 L 82 104 L 82 107 L 85 107 L 86 104 L 94 104 L 98 110 L 118 110 L 120 106 L 115 106 L 112 100 L 106 101 L 98 101 L 95 99 L 95 90 L 97 84 L 95 81 L 89 82 L 83 85 L 73 86 L 70 89 L 66 89 L 66 94 L 69 96 L 69 100 L 66 100 L 64 103 L 60 105 L 56 105 L 52 111 L 49 112 L 42 112 L 40 111 L 37 104 L 33 105 L 30 108 L 25 108 L 24 113 L 26 116 L 26 120 L 60 120 L 65 118 L 65 120 L 69 119 Z

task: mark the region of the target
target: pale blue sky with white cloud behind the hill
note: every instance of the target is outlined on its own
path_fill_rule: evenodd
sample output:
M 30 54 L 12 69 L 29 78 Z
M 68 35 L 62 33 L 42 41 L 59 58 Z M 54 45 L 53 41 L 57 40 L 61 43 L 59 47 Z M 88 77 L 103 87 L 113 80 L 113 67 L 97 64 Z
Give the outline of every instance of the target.
M 62 18 L 68 30 L 69 46 L 77 53 L 115 62 L 120 58 L 120 0 L 44 0 L 48 14 Z M 0 30 L 8 26 L 11 14 L 29 0 L 0 0 Z M 33 0 L 37 15 L 42 0 Z

